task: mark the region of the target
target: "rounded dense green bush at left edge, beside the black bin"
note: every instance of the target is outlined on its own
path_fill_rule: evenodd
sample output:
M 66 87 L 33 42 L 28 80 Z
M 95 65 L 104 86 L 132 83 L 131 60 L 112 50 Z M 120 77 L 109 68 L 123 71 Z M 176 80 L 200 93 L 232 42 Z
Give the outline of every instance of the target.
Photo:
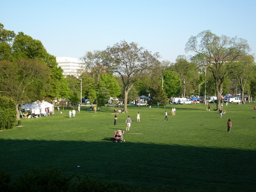
M 16 106 L 12 98 L 0 96 L 0 130 L 11 129 L 16 121 Z

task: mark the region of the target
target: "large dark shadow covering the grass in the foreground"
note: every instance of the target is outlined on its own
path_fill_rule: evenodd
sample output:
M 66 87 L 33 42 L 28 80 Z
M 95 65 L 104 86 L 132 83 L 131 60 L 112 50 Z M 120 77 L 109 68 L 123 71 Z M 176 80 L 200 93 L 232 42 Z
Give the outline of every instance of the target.
M 30 167 L 40 170 L 56 167 L 65 169 L 63 173 L 67 175 L 85 173 L 97 180 L 146 190 L 253 191 L 256 187 L 253 150 L 127 140 L 115 143 L 107 137 L 102 142 L 3 139 L 0 142 L 0 170 L 15 177 Z

